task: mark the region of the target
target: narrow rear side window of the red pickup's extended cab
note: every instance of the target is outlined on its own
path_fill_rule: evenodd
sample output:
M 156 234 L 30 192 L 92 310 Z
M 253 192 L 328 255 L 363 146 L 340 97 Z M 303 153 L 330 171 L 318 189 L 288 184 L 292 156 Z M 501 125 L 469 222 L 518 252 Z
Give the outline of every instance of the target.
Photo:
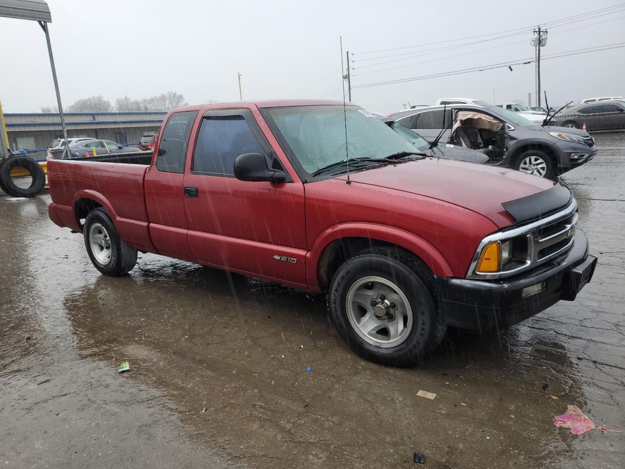
M 184 157 L 196 116 L 197 111 L 171 114 L 159 144 L 156 169 L 166 173 L 184 173 Z

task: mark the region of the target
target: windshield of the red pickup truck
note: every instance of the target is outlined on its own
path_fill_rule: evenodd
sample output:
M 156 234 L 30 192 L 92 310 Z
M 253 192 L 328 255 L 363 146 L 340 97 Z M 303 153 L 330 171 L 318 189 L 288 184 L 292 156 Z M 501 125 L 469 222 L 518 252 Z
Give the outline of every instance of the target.
M 414 146 L 399 136 L 372 113 L 348 106 L 293 106 L 267 108 L 282 139 L 304 171 L 312 174 L 319 168 L 347 159 L 345 120 L 349 158 L 386 158 Z

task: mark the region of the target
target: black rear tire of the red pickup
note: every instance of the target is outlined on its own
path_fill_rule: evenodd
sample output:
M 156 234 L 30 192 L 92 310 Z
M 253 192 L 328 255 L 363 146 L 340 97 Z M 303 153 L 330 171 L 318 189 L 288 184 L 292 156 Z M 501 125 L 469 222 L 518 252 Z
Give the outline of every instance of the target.
M 109 260 L 99 260 L 94 250 L 92 249 L 92 243 L 90 241 L 91 229 L 98 229 L 104 232 L 103 243 L 108 241 Z M 113 225 L 113 221 L 106 210 L 103 208 L 96 208 L 89 212 L 87 218 L 84 221 L 83 228 L 84 245 L 87 249 L 89 259 L 101 273 L 113 277 L 118 277 L 133 270 L 137 263 L 137 250 L 131 249 L 119 238 L 119 234 Z M 95 243 L 94 243 L 95 244 Z

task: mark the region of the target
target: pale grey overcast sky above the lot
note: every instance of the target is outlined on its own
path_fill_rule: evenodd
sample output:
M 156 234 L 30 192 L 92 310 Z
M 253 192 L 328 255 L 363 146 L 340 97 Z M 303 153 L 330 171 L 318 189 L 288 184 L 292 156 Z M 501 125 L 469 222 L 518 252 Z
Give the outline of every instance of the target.
M 191 1 L 49 0 L 50 33 L 64 106 L 101 94 L 145 98 L 164 91 L 191 104 L 244 99 L 341 99 L 341 56 L 354 53 L 352 85 L 533 58 L 529 29 L 619 2 L 562 1 Z M 625 6 L 625 3 L 623 3 Z M 612 20 L 612 21 L 607 21 Z M 592 23 L 599 23 L 589 26 Z M 426 54 L 449 39 L 526 28 L 526 33 Z M 576 28 L 574 31 L 564 31 Z M 510 34 L 510 33 L 507 33 Z M 502 36 L 504 34 L 500 34 Z M 490 36 L 494 37 L 494 36 Z M 469 39 L 466 42 L 486 38 Z M 519 42 L 520 41 L 520 42 Z M 543 54 L 625 41 L 625 11 L 549 28 Z M 503 46 L 503 44 L 511 44 Z M 501 46 L 494 48 L 495 46 Z M 493 48 L 484 50 L 486 48 Z M 364 68 L 406 56 L 421 57 Z M 453 58 L 441 59 L 449 56 Z M 566 100 L 625 94 L 625 48 L 546 60 L 542 89 L 553 106 Z M 0 99 L 4 112 L 54 105 L 44 34 L 32 21 L 0 18 Z M 423 63 L 431 61 L 429 63 Z M 394 70 L 384 68 L 406 66 Z M 361 68 L 362 67 L 362 68 Z M 402 104 L 433 104 L 444 96 L 497 102 L 534 100 L 534 64 L 352 90 L 352 101 L 391 113 Z M 376 73 L 364 74 L 364 72 Z

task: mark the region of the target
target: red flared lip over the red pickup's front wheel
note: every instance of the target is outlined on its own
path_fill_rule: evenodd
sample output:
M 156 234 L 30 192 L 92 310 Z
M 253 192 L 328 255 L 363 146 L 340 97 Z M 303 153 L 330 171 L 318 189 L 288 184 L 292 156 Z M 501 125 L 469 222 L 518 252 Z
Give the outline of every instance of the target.
M 332 241 L 341 238 L 368 238 L 371 240 L 385 241 L 410 251 L 419 257 L 437 276 L 453 276 L 449 263 L 442 254 L 430 243 L 403 229 L 392 226 L 378 225 L 374 223 L 341 223 L 330 228 L 317 236 L 311 250 L 306 255 L 306 278 L 312 291 L 321 291 L 317 270 L 319 258 L 325 248 Z

